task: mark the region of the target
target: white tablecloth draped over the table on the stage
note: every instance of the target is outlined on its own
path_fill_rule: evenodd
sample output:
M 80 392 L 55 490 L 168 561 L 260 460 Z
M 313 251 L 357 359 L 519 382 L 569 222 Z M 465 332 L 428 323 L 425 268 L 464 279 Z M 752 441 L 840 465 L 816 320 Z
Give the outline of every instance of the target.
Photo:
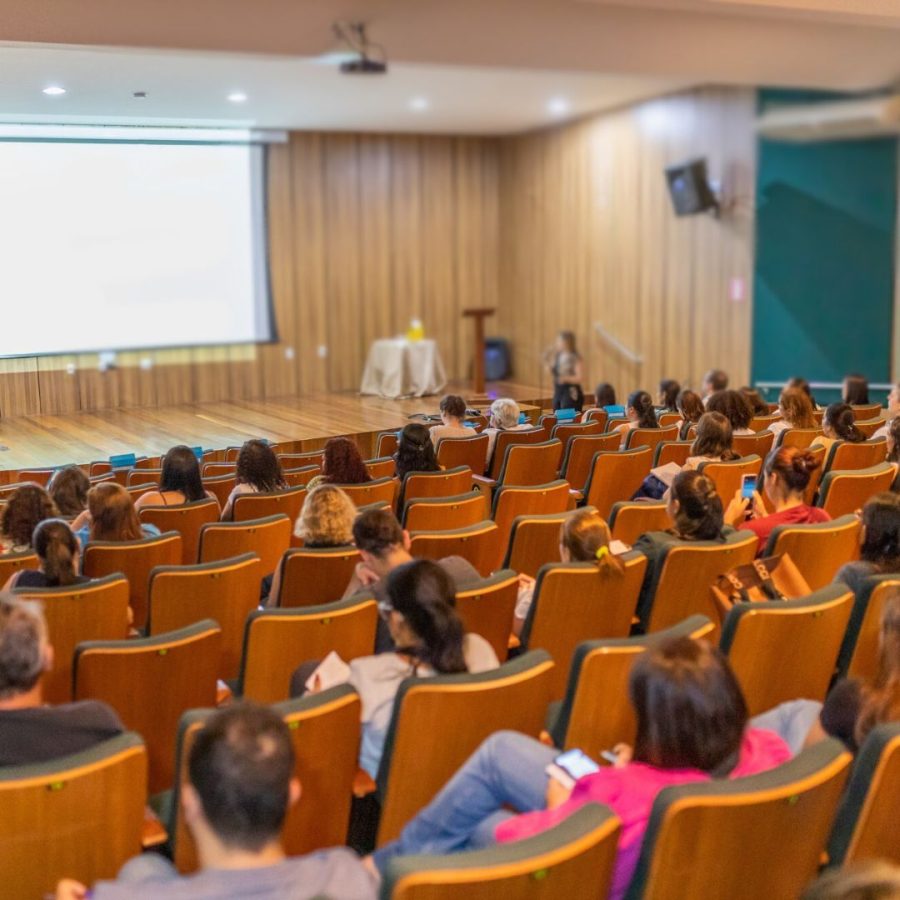
M 394 338 L 372 344 L 359 391 L 396 400 L 436 394 L 446 383 L 435 341 Z

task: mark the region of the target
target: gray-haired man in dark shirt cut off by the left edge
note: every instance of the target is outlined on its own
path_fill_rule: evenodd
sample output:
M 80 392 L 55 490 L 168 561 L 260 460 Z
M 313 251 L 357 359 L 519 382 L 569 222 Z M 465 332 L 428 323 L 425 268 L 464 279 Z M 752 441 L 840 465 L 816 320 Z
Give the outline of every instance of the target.
M 40 605 L 0 594 L 0 766 L 79 753 L 125 730 L 97 700 L 44 706 L 43 675 L 52 667 Z

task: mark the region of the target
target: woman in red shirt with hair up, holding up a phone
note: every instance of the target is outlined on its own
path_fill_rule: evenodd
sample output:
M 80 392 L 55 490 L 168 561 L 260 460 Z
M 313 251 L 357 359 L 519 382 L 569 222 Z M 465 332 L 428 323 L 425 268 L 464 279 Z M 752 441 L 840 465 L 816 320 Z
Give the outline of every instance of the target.
M 748 500 L 738 491 L 728 506 L 725 521 L 741 531 L 752 531 L 758 538 L 757 554 L 766 549 L 769 535 L 779 525 L 806 525 L 828 522 L 831 516 L 806 502 L 806 489 L 812 473 L 821 464 L 808 450 L 781 447 L 773 450 L 763 466 L 763 490 L 775 507 L 769 513 L 759 491 Z M 747 513 L 750 519 L 747 519 Z

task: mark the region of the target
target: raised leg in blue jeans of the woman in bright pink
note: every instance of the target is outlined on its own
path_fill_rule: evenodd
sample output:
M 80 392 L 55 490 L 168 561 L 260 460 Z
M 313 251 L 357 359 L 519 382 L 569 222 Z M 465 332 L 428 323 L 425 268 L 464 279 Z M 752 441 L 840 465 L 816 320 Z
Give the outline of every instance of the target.
M 519 812 L 544 809 L 548 775 L 544 769 L 559 751 L 514 731 L 491 735 L 412 819 L 400 837 L 376 850 L 380 871 L 393 856 L 453 853 L 494 843 L 494 830 Z

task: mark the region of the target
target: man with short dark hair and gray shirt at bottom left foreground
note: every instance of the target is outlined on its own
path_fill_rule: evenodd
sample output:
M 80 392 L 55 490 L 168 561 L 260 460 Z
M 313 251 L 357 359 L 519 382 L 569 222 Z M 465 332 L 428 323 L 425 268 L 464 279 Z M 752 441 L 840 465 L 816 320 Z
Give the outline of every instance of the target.
M 290 732 L 272 710 L 239 703 L 215 713 L 197 733 L 188 774 L 182 804 L 199 872 L 181 876 L 164 857 L 145 853 L 90 892 L 64 879 L 57 900 L 375 900 L 376 879 L 346 847 L 285 856 L 281 829 L 300 783 Z

